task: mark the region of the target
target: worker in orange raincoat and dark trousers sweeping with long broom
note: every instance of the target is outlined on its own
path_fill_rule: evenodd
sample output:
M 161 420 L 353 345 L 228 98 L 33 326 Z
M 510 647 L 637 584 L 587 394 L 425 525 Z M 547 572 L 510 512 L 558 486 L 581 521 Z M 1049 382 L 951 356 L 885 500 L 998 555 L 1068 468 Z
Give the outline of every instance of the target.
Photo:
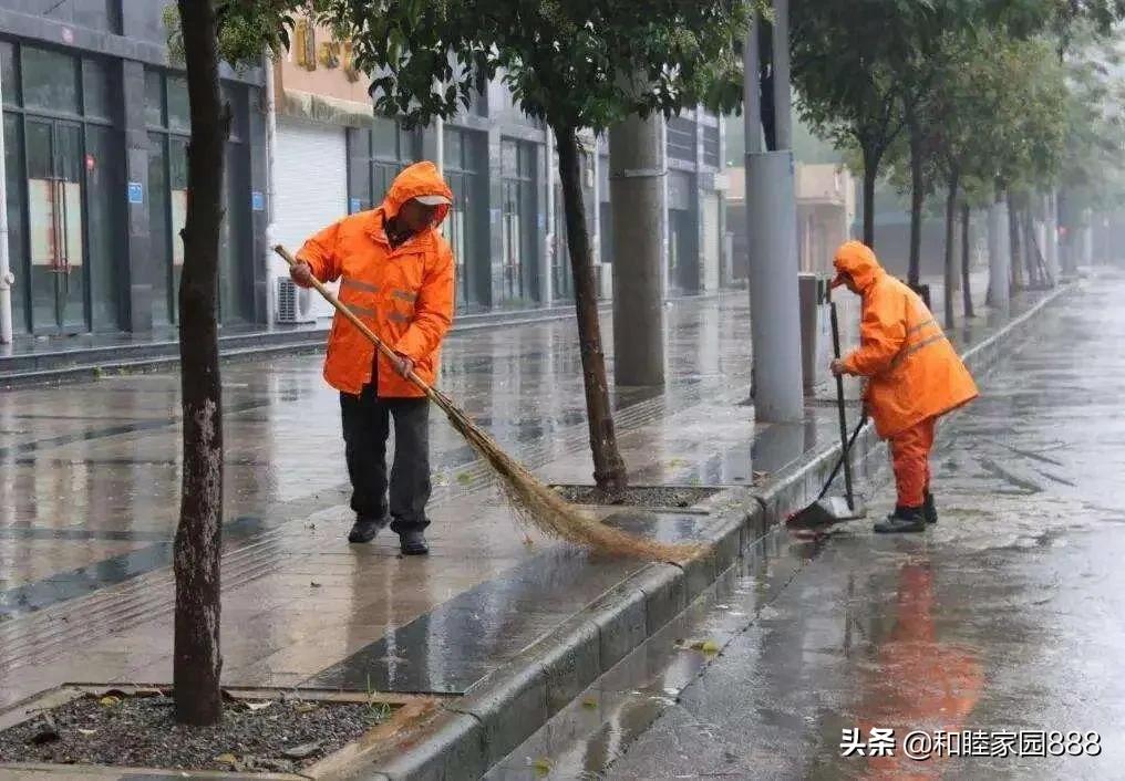
M 382 203 L 333 223 L 305 242 L 292 267 L 340 280 L 340 300 L 369 326 L 388 360 L 339 312 L 328 336 L 324 379 L 340 391 L 344 453 L 356 524 L 348 541 L 368 543 L 388 523 L 405 555 L 429 553 L 430 402 L 407 375 L 425 383 L 438 373 L 442 338 L 453 317 L 453 253 L 436 228 L 453 193 L 436 166 L 415 163 L 395 178 Z M 386 447 L 395 425 L 389 503 Z

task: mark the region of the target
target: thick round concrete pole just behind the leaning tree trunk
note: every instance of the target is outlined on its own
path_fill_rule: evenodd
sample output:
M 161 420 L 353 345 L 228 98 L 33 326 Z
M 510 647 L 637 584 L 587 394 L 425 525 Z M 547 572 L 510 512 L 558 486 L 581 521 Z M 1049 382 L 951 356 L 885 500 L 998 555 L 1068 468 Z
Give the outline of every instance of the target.
M 613 378 L 664 384 L 664 119 L 632 116 L 610 129 L 613 203 Z

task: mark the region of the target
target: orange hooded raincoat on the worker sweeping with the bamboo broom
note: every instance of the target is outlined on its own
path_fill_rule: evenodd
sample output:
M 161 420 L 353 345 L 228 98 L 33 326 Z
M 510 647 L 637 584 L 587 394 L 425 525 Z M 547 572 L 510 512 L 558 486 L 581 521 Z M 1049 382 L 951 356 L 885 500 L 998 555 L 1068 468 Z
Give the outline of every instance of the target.
M 430 162 L 405 169 L 377 209 L 344 217 L 305 242 L 297 258 L 322 282 L 340 280 L 340 301 L 387 346 L 414 361 L 415 373 L 433 383 L 442 337 L 453 318 L 453 253 L 436 227 L 449 214 L 438 207 L 434 225 L 392 248 L 384 224 L 418 196 L 453 193 Z M 371 381 L 375 346 L 336 314 L 328 336 L 324 379 L 336 390 L 359 393 Z M 398 375 L 382 355 L 378 396 L 424 393 Z

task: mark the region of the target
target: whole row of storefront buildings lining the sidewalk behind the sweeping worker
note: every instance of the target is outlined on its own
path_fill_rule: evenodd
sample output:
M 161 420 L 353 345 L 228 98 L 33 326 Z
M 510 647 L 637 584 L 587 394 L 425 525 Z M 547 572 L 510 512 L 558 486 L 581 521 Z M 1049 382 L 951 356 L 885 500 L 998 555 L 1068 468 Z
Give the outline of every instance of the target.
M 17 335 L 174 328 L 190 138 L 187 82 L 161 2 L 0 0 L 7 247 Z M 378 206 L 405 165 L 438 162 L 456 196 L 443 228 L 460 312 L 573 298 L 557 155 L 541 122 L 495 81 L 454 119 L 421 130 L 375 117 L 350 47 L 302 22 L 266 67 L 223 69 L 226 148 L 219 318 L 277 319 L 287 271 L 269 252 Z M 728 274 L 718 118 L 667 121 L 669 296 Z M 600 291 L 612 290 L 608 144 L 583 137 L 583 187 Z M 271 148 L 272 145 L 272 148 Z M 331 314 L 309 301 L 312 317 Z

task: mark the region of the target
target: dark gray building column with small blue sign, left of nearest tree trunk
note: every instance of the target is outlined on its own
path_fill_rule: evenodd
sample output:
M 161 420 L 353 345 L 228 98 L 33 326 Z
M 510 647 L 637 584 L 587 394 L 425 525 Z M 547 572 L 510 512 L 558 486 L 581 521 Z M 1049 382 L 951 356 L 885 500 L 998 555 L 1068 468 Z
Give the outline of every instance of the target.
M 141 184 L 142 202 L 125 206 L 126 267 L 129 278 L 128 328 L 152 330 L 152 275 L 155 261 L 148 252 L 148 133 L 145 129 L 144 65 L 122 62 L 122 113 L 125 128 L 125 180 Z M 125 193 L 122 199 L 127 201 Z

